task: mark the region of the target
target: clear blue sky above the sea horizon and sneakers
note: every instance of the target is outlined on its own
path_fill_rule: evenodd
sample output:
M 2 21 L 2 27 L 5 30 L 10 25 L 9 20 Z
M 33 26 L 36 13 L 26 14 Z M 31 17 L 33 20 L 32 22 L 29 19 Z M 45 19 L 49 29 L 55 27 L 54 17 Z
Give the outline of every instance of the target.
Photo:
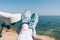
M 39 15 L 60 15 L 60 0 L 0 0 L 0 11 L 23 13 L 24 10 Z

